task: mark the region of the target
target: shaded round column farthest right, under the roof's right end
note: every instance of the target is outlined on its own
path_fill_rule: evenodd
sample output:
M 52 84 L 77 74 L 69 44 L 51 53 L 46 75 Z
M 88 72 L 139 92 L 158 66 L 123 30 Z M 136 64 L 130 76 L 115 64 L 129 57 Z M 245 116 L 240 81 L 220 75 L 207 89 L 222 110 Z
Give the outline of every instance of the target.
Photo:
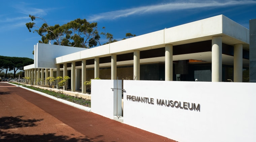
M 234 45 L 234 82 L 243 82 L 243 44 Z

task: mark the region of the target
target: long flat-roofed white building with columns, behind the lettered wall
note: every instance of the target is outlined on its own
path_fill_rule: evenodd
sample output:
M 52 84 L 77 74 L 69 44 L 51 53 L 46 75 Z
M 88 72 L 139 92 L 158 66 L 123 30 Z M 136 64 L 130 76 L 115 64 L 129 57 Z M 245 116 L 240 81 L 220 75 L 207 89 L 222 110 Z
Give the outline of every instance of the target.
M 71 90 L 84 93 L 83 82 L 96 77 L 243 82 L 249 30 L 218 15 L 90 49 L 38 43 L 34 53 L 26 76 L 69 75 Z

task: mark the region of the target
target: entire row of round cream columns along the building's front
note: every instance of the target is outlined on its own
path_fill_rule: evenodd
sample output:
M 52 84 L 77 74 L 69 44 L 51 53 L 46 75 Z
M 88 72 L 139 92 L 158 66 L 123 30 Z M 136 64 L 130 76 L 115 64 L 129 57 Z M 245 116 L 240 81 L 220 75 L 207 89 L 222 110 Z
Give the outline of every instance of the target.
M 37 74 L 36 74 L 37 72 Z M 234 82 L 242 82 L 243 74 L 243 45 L 234 45 Z M 133 75 L 134 80 L 140 80 L 140 51 L 133 51 Z M 40 78 L 40 69 L 29 69 L 25 76 Z M 53 77 L 53 69 L 50 69 Z M 60 64 L 57 64 L 57 76 L 60 76 Z M 63 63 L 63 76 L 67 76 L 67 63 Z M 173 80 L 173 45 L 165 45 L 165 81 Z M 44 77 L 44 69 L 41 69 L 41 78 Z M 45 69 L 45 78 L 48 77 L 48 69 Z M 71 91 L 79 89 L 80 72 L 75 68 L 75 61 L 71 62 Z M 99 57 L 94 58 L 94 77 L 99 77 Z M 78 80 L 79 79 L 79 80 Z M 111 55 L 111 79 L 117 79 L 117 55 Z M 86 59 L 82 59 L 82 83 L 86 81 Z M 222 37 L 212 37 L 212 82 L 222 81 Z M 32 84 L 32 82 L 30 82 Z M 34 84 L 34 83 L 33 83 Z M 57 83 L 57 89 L 60 86 Z M 85 85 L 82 85 L 82 93 L 86 93 Z

